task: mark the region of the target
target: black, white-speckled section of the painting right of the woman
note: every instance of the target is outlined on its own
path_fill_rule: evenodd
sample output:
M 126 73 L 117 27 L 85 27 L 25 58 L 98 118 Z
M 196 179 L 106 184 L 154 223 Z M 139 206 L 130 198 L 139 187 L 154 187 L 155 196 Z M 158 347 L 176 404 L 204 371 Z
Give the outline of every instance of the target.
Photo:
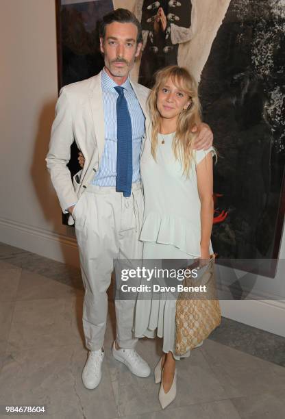
M 276 259 L 284 220 L 284 1 L 232 0 L 201 74 L 214 131 L 221 258 Z M 271 272 L 264 272 L 274 276 Z

